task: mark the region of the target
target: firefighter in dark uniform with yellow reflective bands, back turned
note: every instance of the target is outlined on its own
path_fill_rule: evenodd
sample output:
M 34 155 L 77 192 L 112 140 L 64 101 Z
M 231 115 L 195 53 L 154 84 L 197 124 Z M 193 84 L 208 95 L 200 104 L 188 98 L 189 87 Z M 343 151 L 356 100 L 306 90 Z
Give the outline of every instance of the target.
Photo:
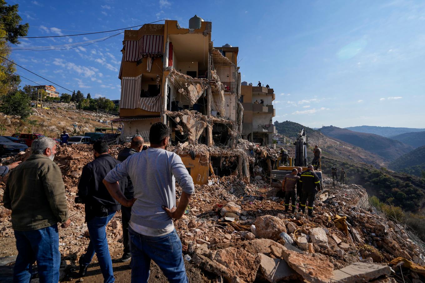
M 301 173 L 300 182 L 303 183 L 303 198 L 300 202 L 300 211 L 304 213 L 308 200 L 307 208 L 309 210 L 309 216 L 313 215 L 314 199 L 316 198 L 317 191 L 320 191 L 320 180 L 317 174 L 313 172 L 313 165 L 307 166 L 308 169 Z

